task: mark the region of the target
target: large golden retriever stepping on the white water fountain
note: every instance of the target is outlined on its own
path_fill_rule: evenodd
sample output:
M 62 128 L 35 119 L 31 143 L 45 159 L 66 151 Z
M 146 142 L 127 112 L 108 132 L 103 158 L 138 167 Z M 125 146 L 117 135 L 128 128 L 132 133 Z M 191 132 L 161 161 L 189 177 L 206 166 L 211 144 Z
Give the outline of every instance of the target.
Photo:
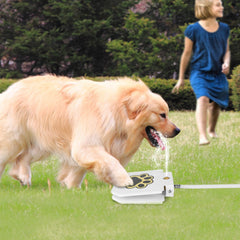
M 30 164 L 54 154 L 58 181 L 81 186 L 87 171 L 115 186 L 133 184 L 124 166 L 146 138 L 162 145 L 180 130 L 168 105 L 141 81 L 29 77 L 0 94 L 0 176 L 31 184 Z

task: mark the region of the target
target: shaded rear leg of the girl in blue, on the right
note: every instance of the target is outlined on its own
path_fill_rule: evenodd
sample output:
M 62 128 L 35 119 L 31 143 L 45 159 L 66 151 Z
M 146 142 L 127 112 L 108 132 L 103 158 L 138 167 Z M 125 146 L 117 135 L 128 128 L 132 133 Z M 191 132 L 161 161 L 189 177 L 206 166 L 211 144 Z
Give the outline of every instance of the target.
M 212 138 L 216 138 L 217 134 L 216 134 L 216 125 L 217 125 L 217 121 L 218 121 L 218 117 L 220 114 L 220 107 L 218 106 L 218 104 L 216 104 L 215 102 L 212 102 L 209 104 L 209 126 L 208 126 L 208 134 L 210 137 Z

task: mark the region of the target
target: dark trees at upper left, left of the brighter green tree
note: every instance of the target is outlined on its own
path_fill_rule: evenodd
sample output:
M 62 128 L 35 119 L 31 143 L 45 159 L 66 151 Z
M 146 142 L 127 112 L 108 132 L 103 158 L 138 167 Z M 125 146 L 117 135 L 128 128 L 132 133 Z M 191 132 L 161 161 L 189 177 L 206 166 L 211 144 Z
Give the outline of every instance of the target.
M 121 36 L 136 0 L 0 1 L 2 67 L 27 75 L 98 75 L 110 64 L 106 43 Z M 9 65 L 10 62 L 14 64 Z

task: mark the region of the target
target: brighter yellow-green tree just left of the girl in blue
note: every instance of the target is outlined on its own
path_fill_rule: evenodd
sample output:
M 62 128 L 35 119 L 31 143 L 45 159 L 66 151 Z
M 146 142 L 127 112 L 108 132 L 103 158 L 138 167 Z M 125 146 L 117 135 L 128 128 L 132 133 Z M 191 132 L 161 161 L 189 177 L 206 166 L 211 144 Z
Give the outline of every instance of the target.
M 150 19 L 148 14 L 153 12 L 151 8 L 143 15 L 129 12 L 124 38 L 107 44 L 116 74 L 171 78 L 178 71 L 178 58 L 183 47 L 181 30 L 174 27 L 173 31 L 166 27 L 167 24 L 165 27 L 160 24 L 163 20 Z M 168 30 L 171 35 L 167 34 Z

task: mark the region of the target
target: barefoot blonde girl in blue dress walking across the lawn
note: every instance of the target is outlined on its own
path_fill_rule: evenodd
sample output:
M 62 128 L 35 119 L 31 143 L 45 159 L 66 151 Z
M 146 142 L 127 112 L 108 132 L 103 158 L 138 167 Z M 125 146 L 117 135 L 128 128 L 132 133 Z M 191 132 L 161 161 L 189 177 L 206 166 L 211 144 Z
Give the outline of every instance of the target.
M 181 56 L 179 80 L 172 92 L 184 87 L 184 75 L 191 59 L 190 83 L 196 95 L 196 121 L 199 144 L 209 144 L 217 137 L 216 125 L 220 108 L 228 106 L 230 68 L 229 27 L 218 22 L 223 17 L 221 0 L 196 0 L 195 16 L 198 22 L 185 31 L 184 51 Z M 207 128 L 208 117 L 208 128 Z

